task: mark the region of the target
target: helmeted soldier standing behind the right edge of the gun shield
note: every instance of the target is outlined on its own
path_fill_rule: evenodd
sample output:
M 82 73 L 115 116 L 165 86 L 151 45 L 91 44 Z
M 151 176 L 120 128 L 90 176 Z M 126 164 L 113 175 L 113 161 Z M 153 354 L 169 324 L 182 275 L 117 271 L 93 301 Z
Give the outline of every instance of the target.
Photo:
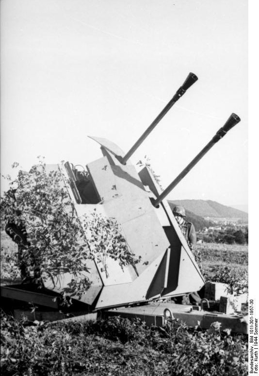
M 181 232 L 183 233 L 185 239 L 187 240 L 189 247 L 192 250 L 193 247 L 196 245 L 196 232 L 195 232 L 195 227 L 193 223 L 185 221 L 184 218 L 186 217 L 186 214 L 185 214 L 185 209 L 183 206 L 179 206 L 179 205 L 175 206 L 173 208 L 173 214 L 175 216 L 175 219 L 177 220 L 177 223 L 181 229 Z M 183 296 L 176 296 L 174 298 L 175 302 L 178 304 L 182 304 L 182 299 L 183 299 Z M 189 299 L 192 305 L 198 305 L 201 301 L 196 291 L 191 292 L 189 294 Z

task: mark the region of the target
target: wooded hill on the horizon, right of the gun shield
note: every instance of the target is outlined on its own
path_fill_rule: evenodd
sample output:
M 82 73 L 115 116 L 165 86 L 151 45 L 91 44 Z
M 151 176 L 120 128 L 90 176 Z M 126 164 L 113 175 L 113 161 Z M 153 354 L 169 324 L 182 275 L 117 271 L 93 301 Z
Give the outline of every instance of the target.
M 206 218 L 239 218 L 248 221 L 248 213 L 230 206 L 222 205 L 211 200 L 168 200 L 170 206 L 181 205 L 186 210 Z

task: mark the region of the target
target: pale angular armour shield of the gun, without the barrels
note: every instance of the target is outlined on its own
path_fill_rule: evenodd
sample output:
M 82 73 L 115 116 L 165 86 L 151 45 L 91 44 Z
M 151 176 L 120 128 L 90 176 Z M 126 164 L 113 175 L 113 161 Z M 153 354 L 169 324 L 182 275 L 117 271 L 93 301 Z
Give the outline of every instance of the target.
M 122 269 L 108 257 L 106 275 L 101 264 L 86 260 L 92 284 L 80 300 L 100 309 L 200 290 L 204 278 L 169 205 L 165 201 L 155 208 L 150 201 L 159 187 L 149 170 L 145 167 L 138 174 L 129 161 L 123 165 L 117 160 L 115 155 L 124 155 L 117 145 L 105 138 L 91 138 L 101 145 L 103 157 L 86 165 L 89 182 L 84 187 L 77 185 L 77 171 L 69 162 L 47 168 L 59 169 L 67 177 L 64 187 L 80 220 L 93 212 L 115 218 L 130 251 L 141 261 Z M 70 280 L 68 273 L 63 274 L 56 284 L 49 279 L 45 287 L 59 292 Z

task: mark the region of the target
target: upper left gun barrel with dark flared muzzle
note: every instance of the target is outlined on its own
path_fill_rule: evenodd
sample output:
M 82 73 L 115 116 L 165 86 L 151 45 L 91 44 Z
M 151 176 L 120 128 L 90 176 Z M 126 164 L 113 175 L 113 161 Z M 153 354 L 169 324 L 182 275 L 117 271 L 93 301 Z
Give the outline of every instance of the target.
M 131 155 L 136 151 L 136 149 L 142 144 L 145 138 L 149 133 L 155 128 L 159 121 L 164 117 L 164 115 L 170 110 L 170 108 L 178 101 L 178 99 L 186 92 L 186 90 L 196 82 L 198 77 L 194 73 L 189 73 L 184 83 L 179 87 L 173 98 L 166 106 L 162 109 L 161 113 L 156 117 L 156 119 L 149 125 L 143 135 L 135 142 L 129 152 L 125 154 L 124 157 L 117 155 L 117 159 L 123 164 L 126 165 L 127 160 Z

